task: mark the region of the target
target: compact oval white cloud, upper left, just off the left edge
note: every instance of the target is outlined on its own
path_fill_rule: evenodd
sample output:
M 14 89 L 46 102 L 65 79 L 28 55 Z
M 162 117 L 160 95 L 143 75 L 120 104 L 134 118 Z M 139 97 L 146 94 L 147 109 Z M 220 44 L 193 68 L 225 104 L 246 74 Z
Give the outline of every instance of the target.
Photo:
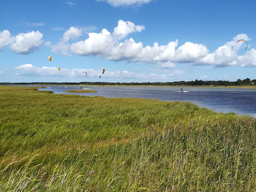
M 13 38 L 13 42 L 10 44 L 10 48 L 17 54 L 27 55 L 33 53 L 35 50 L 38 50 L 42 45 L 42 37 L 43 34 L 39 31 L 20 33 L 15 36 L 15 38 Z

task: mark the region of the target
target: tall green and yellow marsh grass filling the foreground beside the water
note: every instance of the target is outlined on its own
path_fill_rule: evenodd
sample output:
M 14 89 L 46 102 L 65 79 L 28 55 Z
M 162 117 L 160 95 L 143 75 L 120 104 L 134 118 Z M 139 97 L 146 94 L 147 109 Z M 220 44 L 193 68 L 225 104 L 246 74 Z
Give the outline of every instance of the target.
M 0 191 L 254 191 L 255 119 L 0 86 Z

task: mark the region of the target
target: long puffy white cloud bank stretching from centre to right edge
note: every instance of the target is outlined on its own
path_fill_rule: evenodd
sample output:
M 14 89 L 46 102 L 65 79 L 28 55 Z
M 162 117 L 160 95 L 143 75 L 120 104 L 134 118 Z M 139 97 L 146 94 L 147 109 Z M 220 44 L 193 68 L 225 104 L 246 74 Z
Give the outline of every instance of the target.
M 86 40 L 73 43 L 70 50 L 73 54 L 99 56 L 114 61 L 162 63 L 162 68 L 174 67 L 175 63 L 215 67 L 254 66 L 255 63 L 253 53 L 240 57 L 238 62 L 237 51 L 243 45 L 236 42 L 241 38 L 250 40 L 246 34 L 235 36 L 232 41 L 220 46 L 212 53 L 209 53 L 205 45 L 192 42 L 186 42 L 178 47 L 178 40 L 161 46 L 155 42 L 153 46 L 145 48 L 142 42 L 135 42 L 132 38 L 121 42 L 129 34 L 142 30 L 145 30 L 142 25 L 119 20 L 118 26 L 112 33 L 106 29 L 103 29 L 101 33 L 89 33 Z M 246 62 L 246 57 L 250 58 L 250 64 L 248 60 Z

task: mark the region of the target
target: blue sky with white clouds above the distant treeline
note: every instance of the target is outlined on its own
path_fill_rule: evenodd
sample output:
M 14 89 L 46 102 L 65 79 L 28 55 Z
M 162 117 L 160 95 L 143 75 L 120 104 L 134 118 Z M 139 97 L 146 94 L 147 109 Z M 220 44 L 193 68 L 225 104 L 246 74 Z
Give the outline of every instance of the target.
M 255 10 L 254 0 L 1 0 L 0 82 L 256 79 Z

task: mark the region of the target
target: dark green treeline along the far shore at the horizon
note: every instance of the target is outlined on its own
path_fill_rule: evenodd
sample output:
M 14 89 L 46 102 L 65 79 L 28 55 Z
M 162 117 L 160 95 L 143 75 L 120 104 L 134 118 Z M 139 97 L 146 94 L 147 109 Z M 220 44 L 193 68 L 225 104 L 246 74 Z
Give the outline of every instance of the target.
M 194 81 L 174 81 L 174 82 L 30 82 L 30 83 L 9 83 L 2 82 L 0 85 L 152 85 L 152 86 L 254 86 L 256 85 L 256 79 L 250 80 L 246 78 L 244 80 L 236 81 L 208 81 L 208 80 L 194 80 Z

